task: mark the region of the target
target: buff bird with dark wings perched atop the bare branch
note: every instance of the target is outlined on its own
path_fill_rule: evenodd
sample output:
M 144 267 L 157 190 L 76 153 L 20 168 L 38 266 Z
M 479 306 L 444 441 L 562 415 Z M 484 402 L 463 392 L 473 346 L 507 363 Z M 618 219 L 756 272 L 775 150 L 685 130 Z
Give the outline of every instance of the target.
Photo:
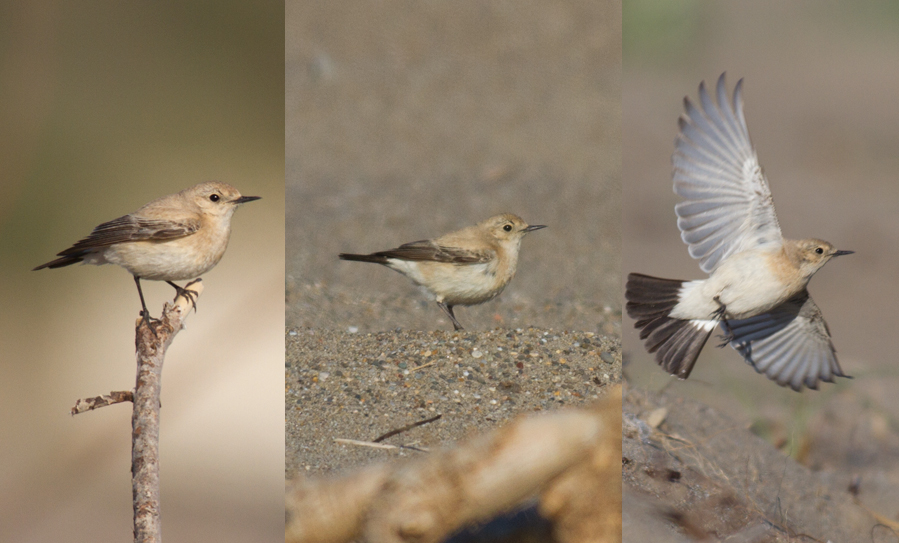
M 190 291 L 172 281 L 196 279 L 215 267 L 228 247 L 234 210 L 258 199 L 241 196 L 227 183 L 200 183 L 101 224 L 88 237 L 58 253 L 60 258 L 34 270 L 78 262 L 117 264 L 134 276 L 141 316 L 149 326 L 150 312 L 140 280 L 165 281 L 178 295 L 193 301 Z

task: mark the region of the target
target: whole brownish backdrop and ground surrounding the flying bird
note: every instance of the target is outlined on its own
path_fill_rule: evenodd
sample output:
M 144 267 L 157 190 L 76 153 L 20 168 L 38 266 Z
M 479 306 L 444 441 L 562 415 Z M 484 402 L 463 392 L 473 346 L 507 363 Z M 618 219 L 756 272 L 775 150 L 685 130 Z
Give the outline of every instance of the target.
M 628 398 L 625 418 L 667 407 L 673 418 L 661 431 L 686 440 L 664 441 L 664 447 L 638 446 L 633 436 L 625 441 L 632 461 L 625 466 L 625 540 L 647 540 L 638 530 L 652 523 L 667 530 L 655 538 L 665 540 L 780 541 L 789 533 L 821 541 L 892 540 L 890 528 L 875 529 L 874 517 L 856 514 L 848 488 L 857 480 L 859 508 L 895 529 L 899 375 L 885 341 L 895 335 L 891 315 L 899 302 L 893 250 L 899 246 L 899 76 L 885 69 L 899 60 L 893 8 L 879 2 L 858 11 L 780 2 L 670 7 L 653 11 L 629 2 L 625 8 L 622 271 L 703 276 L 675 223 L 676 120 L 683 96 L 695 97 L 699 81 L 714 82 L 727 71 L 732 88 L 743 77 L 749 131 L 784 234 L 856 251 L 827 264 L 809 286 L 842 367 L 855 379 L 797 394 L 757 375 L 730 348 L 706 346 L 690 379 L 673 380 L 625 318 L 625 375 L 638 397 L 646 395 Z M 683 474 L 680 482 L 647 482 L 641 475 L 669 464 Z M 754 473 L 739 471 L 747 464 Z M 703 509 L 720 513 L 696 498 L 700 491 L 735 496 L 733 508 L 745 514 L 722 514 L 717 524 L 697 519 Z M 812 504 L 815 512 L 807 509 Z M 855 511 L 854 520 L 836 514 L 833 504 Z M 685 515 L 697 528 L 660 520 L 652 513 L 658 510 Z M 759 532 L 758 523 L 770 525 Z M 771 526 L 785 531 L 775 535 Z

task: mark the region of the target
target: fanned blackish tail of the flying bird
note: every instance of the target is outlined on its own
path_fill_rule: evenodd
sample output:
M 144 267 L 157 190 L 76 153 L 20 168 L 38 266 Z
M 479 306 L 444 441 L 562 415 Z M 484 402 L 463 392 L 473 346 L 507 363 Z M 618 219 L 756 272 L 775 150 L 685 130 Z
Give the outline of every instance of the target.
M 668 316 L 677 305 L 683 284 L 676 279 L 631 273 L 624 297 L 627 314 L 637 321 L 634 327 L 646 341 L 646 350 L 656 353 L 656 362 L 665 371 L 686 379 L 715 325 Z

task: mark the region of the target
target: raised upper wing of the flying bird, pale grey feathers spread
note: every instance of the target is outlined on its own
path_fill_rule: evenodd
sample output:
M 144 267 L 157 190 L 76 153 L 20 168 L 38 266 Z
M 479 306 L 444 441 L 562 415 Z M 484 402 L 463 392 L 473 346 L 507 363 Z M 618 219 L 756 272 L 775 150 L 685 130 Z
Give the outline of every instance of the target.
M 677 227 L 707 273 L 730 254 L 783 241 L 743 117 L 743 80 L 731 104 L 721 74 L 717 95 L 716 104 L 703 82 L 701 108 L 684 98 L 686 114 L 678 121 L 672 156 L 674 192 L 684 198 L 674 208 Z

